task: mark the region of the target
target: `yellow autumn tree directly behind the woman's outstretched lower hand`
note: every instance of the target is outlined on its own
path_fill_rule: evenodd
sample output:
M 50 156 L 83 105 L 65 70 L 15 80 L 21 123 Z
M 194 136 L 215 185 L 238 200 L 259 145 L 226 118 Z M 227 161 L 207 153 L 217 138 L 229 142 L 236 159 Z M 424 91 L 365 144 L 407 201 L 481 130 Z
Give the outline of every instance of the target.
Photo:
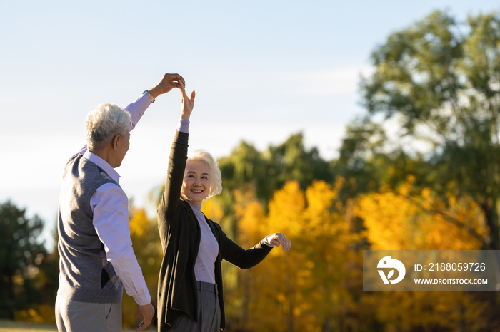
M 360 325 L 346 318 L 356 316 L 349 282 L 361 279 L 361 269 L 351 268 L 360 259 L 351 249 L 359 237 L 349 231 L 338 200 L 343 184 L 313 181 L 303 192 L 299 182 L 286 182 L 274 192 L 267 215 L 251 193 L 236 194 L 241 244 L 273 232 L 292 244 L 241 271 L 241 331 L 348 331 Z

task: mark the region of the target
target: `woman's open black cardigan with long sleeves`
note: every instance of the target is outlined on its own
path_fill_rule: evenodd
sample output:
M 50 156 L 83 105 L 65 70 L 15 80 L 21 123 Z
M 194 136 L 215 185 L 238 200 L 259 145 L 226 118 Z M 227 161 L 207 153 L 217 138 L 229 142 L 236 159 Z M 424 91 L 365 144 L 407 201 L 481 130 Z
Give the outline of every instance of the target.
M 194 264 L 200 243 L 200 227 L 193 210 L 181 199 L 181 187 L 187 160 L 187 133 L 177 132 L 172 143 L 166 185 L 158 207 L 158 228 L 164 258 L 158 284 L 158 331 L 168 331 L 175 318 L 183 313 L 198 321 L 198 291 Z M 272 247 L 260 242 L 244 250 L 226 237 L 219 224 L 206 219 L 219 243 L 215 261 L 215 280 L 219 289 L 221 329 L 226 328 L 221 260 L 226 259 L 240 269 L 259 264 Z

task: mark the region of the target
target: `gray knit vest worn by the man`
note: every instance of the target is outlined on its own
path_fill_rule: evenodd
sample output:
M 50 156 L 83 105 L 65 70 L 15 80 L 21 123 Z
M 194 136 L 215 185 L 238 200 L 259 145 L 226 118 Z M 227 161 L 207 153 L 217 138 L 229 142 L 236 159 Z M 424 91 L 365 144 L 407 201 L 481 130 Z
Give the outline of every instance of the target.
M 64 167 L 59 196 L 59 290 L 72 301 L 120 303 L 123 284 L 106 259 L 104 244 L 92 224 L 92 194 L 105 183 L 114 183 L 101 167 L 81 155 Z

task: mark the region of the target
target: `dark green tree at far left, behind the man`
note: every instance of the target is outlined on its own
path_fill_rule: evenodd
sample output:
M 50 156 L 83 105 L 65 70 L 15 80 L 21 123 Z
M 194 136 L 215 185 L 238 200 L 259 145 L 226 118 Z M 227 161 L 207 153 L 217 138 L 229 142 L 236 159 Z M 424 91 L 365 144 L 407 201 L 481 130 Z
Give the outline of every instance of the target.
M 16 311 L 40 304 L 43 285 L 34 282 L 46 249 L 38 237 L 44 227 L 38 216 L 7 201 L 0 204 L 0 318 L 14 319 Z

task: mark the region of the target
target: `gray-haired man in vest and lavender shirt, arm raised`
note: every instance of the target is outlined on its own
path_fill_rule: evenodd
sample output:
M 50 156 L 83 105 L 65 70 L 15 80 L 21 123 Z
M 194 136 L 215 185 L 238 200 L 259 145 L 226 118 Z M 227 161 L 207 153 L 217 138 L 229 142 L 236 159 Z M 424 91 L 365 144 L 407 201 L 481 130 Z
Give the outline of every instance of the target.
M 114 168 L 146 108 L 179 83 L 185 84 L 181 76 L 165 74 L 125 110 L 101 104 L 87 115 L 87 145 L 66 163 L 59 198 L 59 331 L 121 331 L 124 286 L 144 319 L 137 331 L 151 323 L 154 308 L 130 239 L 129 202 Z

